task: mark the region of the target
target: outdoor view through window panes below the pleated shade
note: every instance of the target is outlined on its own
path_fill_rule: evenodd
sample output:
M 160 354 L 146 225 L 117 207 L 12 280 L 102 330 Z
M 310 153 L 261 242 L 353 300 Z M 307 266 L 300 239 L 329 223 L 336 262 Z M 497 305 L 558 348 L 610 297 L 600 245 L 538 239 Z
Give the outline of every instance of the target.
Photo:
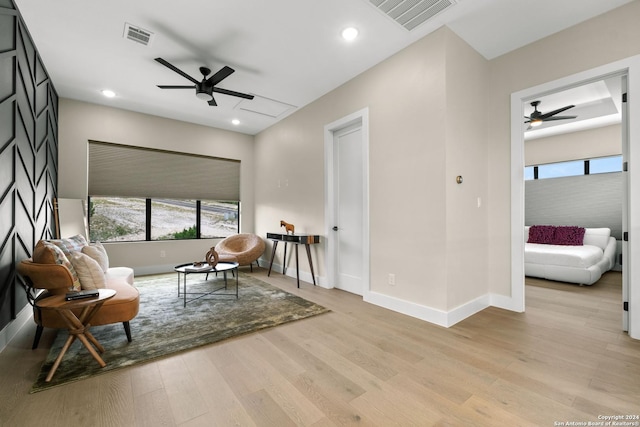
M 149 200 L 149 203 L 147 203 Z M 92 241 L 227 237 L 239 232 L 238 202 L 200 201 L 200 236 L 196 200 L 91 197 L 89 234 Z M 150 224 L 147 224 L 149 208 Z

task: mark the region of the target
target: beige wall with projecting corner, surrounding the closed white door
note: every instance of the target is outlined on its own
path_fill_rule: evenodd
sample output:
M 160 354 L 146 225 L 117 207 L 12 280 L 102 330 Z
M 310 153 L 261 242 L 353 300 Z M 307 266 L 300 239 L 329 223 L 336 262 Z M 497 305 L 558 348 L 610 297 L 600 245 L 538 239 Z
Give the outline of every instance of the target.
M 368 107 L 371 291 L 442 311 L 486 294 L 486 252 L 478 248 L 487 245 L 487 217 L 477 208 L 488 193 L 478 115 L 486 69 L 441 28 L 257 135 L 256 230 L 277 228 L 280 219 L 296 230 L 327 228 L 324 126 Z M 285 175 L 289 187 L 278 187 Z M 323 246 L 314 255 L 321 277 Z M 300 269 L 308 271 L 306 262 Z

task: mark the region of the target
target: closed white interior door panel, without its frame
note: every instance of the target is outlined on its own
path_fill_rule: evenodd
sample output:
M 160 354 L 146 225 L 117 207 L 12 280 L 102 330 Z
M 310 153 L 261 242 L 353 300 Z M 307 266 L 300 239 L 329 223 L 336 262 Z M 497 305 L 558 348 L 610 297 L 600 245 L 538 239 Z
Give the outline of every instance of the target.
M 361 123 L 334 132 L 335 287 L 358 295 L 363 293 L 364 268 L 362 141 Z

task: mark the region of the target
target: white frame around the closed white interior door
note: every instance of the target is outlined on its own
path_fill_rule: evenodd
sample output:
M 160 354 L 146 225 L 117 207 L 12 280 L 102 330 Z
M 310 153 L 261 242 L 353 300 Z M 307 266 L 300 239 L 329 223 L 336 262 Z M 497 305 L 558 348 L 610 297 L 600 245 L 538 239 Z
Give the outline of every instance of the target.
M 338 250 L 337 239 L 333 238 L 335 225 L 335 182 L 334 182 L 334 134 L 346 127 L 360 124 L 362 128 L 362 183 L 363 183 L 363 204 L 362 204 L 362 297 L 366 300 L 371 289 L 370 283 L 370 229 L 369 229 L 369 108 L 363 108 L 349 114 L 341 119 L 331 122 L 324 127 L 324 207 L 325 207 L 325 260 L 327 266 L 327 287 L 333 288 L 336 282 L 337 263 L 336 256 Z

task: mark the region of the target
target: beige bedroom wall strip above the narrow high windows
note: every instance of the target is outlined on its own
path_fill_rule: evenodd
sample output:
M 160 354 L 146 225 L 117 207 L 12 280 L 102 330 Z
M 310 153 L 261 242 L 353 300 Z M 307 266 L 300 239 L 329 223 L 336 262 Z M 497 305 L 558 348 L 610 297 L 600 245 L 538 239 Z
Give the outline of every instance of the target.
M 622 135 L 619 124 L 532 139 L 524 144 L 526 166 L 621 154 Z

